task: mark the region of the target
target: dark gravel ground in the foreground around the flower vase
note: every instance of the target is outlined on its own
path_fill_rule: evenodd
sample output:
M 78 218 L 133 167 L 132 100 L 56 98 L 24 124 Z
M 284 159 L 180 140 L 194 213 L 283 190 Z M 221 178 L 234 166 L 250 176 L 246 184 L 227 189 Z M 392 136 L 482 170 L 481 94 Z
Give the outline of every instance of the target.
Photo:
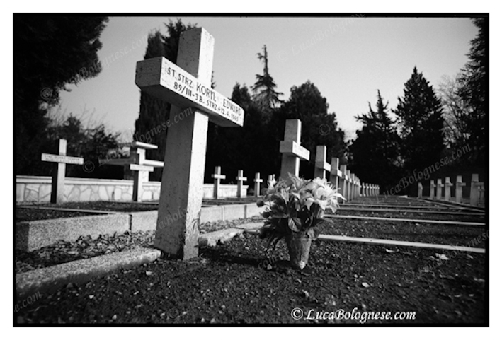
M 312 317 L 355 308 L 414 313 L 365 324 L 488 324 L 483 254 L 316 241 L 300 272 L 283 265 L 282 243 L 264 246 L 249 235 L 202 247 L 190 261 L 159 259 L 69 284 L 21 308 L 15 324 L 361 324 Z

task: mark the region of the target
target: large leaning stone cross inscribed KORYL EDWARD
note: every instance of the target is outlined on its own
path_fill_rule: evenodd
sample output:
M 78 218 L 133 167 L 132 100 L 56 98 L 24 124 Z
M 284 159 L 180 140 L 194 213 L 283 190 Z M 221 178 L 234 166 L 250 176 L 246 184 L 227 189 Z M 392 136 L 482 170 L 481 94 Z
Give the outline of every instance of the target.
M 170 102 L 169 120 L 178 122 L 167 134 L 154 241 L 154 247 L 177 259 L 198 256 L 208 123 L 244 124 L 244 110 L 211 88 L 214 47 L 215 39 L 207 30 L 193 28 L 181 33 L 177 64 L 158 57 L 136 66 L 136 85 Z M 187 107 L 195 109 L 193 115 L 178 119 Z M 173 222 L 166 225 L 170 219 Z

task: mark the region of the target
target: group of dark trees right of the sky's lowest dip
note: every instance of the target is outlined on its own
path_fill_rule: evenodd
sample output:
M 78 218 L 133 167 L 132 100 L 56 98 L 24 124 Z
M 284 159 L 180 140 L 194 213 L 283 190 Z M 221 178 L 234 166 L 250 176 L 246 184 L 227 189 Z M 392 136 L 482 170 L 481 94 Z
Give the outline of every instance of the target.
M 452 170 L 459 175 L 469 169 L 485 171 L 488 18 L 472 21 L 478 34 L 455 78 L 445 78 L 434 90 L 415 67 L 397 107 L 389 110 L 379 90 L 375 110 L 369 105 L 367 113 L 356 116 L 363 127 L 350 142 L 348 164 L 360 180 L 379 184 L 382 192 L 407 194 L 411 187 L 399 182 L 423 174 L 436 162 L 441 165 L 436 176 Z

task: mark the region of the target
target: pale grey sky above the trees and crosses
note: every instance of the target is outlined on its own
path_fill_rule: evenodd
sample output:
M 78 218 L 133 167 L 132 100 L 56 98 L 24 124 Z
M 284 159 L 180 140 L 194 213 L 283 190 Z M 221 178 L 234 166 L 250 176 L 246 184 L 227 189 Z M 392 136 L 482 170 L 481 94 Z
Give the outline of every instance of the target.
M 69 86 L 61 111 L 94 112 L 114 131 L 132 136 L 139 115 L 135 65 L 143 59 L 147 36 L 166 34 L 176 17 L 110 17 L 98 56 L 104 69 L 96 78 Z M 269 69 L 282 99 L 292 86 L 312 81 L 329 103 L 348 137 L 360 127 L 354 116 L 375 105 L 377 89 L 389 108 L 403 95 L 413 66 L 433 86 L 455 76 L 467 61 L 477 29 L 468 18 L 341 17 L 181 17 L 215 37 L 216 90 L 228 97 L 235 83 L 251 86 L 263 64 L 256 54 L 267 46 Z

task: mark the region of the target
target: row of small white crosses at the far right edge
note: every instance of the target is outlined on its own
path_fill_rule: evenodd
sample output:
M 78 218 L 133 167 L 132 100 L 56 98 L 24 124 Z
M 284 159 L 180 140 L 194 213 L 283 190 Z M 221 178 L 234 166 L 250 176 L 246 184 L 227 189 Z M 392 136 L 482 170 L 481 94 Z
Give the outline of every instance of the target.
M 463 189 L 465 187 L 465 183 L 462 182 L 462 176 L 457 176 L 457 181 L 455 184 L 450 182 L 450 177 L 445 177 L 445 184 L 443 184 L 443 180 L 438 178 L 437 184 L 434 183 L 434 180 L 430 180 L 430 192 L 429 199 L 442 199 L 443 198 L 443 187 L 445 188 L 445 201 L 450 201 L 450 187 L 455 185 L 455 201 L 457 203 L 462 203 L 463 197 Z M 422 185 L 418 185 L 418 198 L 422 197 Z M 435 193 L 434 193 L 435 192 Z M 470 204 L 478 205 L 479 201 L 484 199 L 484 182 L 479 182 L 479 175 L 472 174 L 471 177 L 471 194 L 470 194 Z

